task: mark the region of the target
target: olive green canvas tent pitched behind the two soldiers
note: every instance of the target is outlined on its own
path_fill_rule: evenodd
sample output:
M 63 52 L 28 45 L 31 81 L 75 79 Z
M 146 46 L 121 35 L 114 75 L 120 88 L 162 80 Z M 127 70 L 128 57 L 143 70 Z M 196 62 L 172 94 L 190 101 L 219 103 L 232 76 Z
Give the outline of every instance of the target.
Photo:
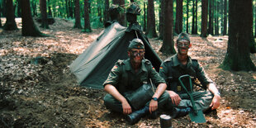
M 143 41 L 145 59 L 149 59 L 158 71 L 162 60 L 151 47 L 140 27 L 139 24 L 132 24 L 126 28 L 118 22 L 107 26 L 92 45 L 70 65 L 70 70 L 77 77 L 78 84 L 88 88 L 102 89 L 102 83 L 107 79 L 116 61 L 128 58 L 128 45 L 135 38 Z

